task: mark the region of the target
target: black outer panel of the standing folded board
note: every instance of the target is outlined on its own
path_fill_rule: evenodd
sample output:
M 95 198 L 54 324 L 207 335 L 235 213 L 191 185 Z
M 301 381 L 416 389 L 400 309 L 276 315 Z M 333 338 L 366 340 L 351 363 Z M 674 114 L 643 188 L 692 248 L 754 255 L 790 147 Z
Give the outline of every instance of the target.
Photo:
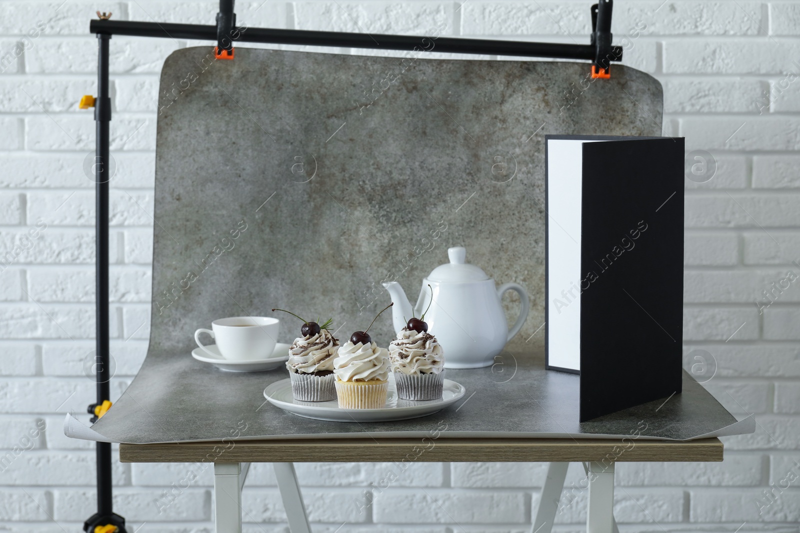
M 681 392 L 683 145 L 583 145 L 581 421 Z

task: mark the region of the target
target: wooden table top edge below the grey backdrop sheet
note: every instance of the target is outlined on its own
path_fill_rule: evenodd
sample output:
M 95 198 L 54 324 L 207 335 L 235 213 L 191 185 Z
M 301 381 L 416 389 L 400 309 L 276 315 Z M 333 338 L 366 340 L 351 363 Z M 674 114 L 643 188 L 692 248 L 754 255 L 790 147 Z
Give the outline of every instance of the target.
M 122 463 L 722 461 L 716 439 L 358 438 L 120 444 Z

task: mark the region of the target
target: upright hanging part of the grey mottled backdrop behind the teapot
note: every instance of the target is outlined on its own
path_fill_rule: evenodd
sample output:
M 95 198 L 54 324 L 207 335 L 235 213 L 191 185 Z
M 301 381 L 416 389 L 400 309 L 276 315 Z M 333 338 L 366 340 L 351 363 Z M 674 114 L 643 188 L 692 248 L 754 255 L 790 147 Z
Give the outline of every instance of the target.
M 237 48 L 203 71 L 207 54 L 178 50 L 162 71 L 156 351 L 275 307 L 333 316 L 347 338 L 389 304 L 382 280 L 416 301 L 453 245 L 498 284 L 527 288 L 527 339 L 544 321 L 545 133 L 661 134 L 661 86 L 624 66 L 590 83 L 579 63 Z M 300 323 L 282 319 L 290 343 Z M 388 313 L 372 333 L 389 343 Z M 530 344 L 543 348 L 541 331 Z

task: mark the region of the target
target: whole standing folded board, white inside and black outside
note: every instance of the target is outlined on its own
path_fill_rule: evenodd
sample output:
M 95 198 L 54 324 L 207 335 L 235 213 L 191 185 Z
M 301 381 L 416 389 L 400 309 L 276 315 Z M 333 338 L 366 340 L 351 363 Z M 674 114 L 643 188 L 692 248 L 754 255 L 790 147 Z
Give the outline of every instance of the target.
M 683 141 L 546 136 L 546 368 L 581 421 L 681 392 Z

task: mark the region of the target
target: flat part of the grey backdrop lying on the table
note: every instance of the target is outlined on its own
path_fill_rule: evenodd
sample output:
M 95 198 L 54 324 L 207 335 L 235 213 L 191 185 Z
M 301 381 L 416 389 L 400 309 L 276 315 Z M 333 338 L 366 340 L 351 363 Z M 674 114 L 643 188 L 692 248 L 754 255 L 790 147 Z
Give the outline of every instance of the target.
M 133 444 L 220 440 L 245 425 L 242 439 L 422 437 L 443 429 L 442 435 L 450 437 L 630 437 L 638 431 L 646 439 L 688 440 L 736 423 L 686 372 L 682 394 L 583 424 L 578 423 L 580 378 L 545 370 L 541 352 L 504 352 L 494 368 L 446 372 L 448 379 L 466 387 L 466 399 L 442 412 L 395 422 L 326 422 L 266 402 L 264 388 L 287 377 L 282 368 L 234 374 L 183 352 L 151 353 L 125 395 L 92 429 L 109 440 Z M 747 431 L 736 433 L 741 432 Z

